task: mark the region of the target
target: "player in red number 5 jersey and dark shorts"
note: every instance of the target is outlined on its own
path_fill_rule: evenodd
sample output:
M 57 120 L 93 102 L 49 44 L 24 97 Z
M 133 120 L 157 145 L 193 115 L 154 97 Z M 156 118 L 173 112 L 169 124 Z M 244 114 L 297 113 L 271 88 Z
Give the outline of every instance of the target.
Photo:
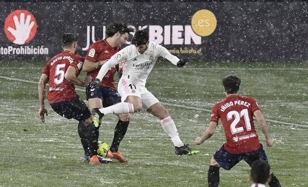
M 95 136 L 93 116 L 84 101 L 75 92 L 75 86 L 86 87 L 90 80 L 84 82 L 78 79 L 84 59 L 75 54 L 78 38 L 71 33 L 63 34 L 63 52 L 51 58 L 45 65 L 40 82 L 38 83 L 38 99 L 40 110 L 38 115 L 45 122 L 47 109 L 45 108 L 45 87 L 49 83 L 47 99 L 51 108 L 67 119 L 79 121 L 78 133 L 83 145 L 85 155 L 90 163 L 111 162 L 97 155 L 98 136 Z

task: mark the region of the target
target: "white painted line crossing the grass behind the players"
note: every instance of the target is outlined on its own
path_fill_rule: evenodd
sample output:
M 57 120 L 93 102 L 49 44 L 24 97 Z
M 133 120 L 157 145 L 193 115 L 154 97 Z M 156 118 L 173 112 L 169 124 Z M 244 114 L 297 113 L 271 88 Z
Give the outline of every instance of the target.
M 27 83 L 34 83 L 34 84 L 37 84 L 37 82 L 35 82 L 35 81 L 27 81 L 27 80 L 23 80 L 23 79 L 12 78 L 12 77 L 0 76 L 0 78 L 1 78 L 1 79 L 12 80 L 12 81 L 20 81 L 20 82 L 27 82 Z M 76 90 L 84 91 L 84 89 L 81 89 L 81 88 L 76 88 Z M 193 109 L 193 110 L 200 110 L 200 111 L 211 112 L 211 110 L 208 110 L 208 109 L 198 108 L 198 107 L 192 107 L 192 106 L 185 106 L 185 105 L 172 104 L 172 103 L 164 103 L 164 102 L 162 102 L 162 104 L 167 105 L 167 106 L 175 106 L 175 107 L 180 107 L 180 108 L 187 108 L 187 109 Z M 305 128 L 308 128 L 308 125 L 301 125 L 301 124 L 295 124 L 295 123 L 280 122 L 280 121 L 277 121 L 277 120 L 269 120 L 269 119 L 266 119 L 266 121 L 272 122 L 272 123 L 276 123 L 276 124 L 294 125 L 294 126 L 297 126 L 297 127 L 305 127 Z

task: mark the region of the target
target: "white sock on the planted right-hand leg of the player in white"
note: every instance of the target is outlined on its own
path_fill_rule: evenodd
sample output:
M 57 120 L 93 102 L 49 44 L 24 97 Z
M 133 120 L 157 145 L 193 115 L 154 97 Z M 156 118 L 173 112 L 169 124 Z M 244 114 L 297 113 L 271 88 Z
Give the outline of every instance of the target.
M 170 116 L 161 120 L 161 125 L 164 131 L 171 137 L 171 141 L 176 147 L 184 146 L 183 142 L 180 139 L 175 122 L 171 119 Z

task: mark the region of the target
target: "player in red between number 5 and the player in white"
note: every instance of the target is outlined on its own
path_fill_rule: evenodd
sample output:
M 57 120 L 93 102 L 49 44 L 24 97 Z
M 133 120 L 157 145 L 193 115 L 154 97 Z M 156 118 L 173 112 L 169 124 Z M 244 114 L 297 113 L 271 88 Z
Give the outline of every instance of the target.
M 122 45 L 126 44 L 129 33 L 133 31 L 133 29 L 128 28 L 123 23 L 111 22 L 106 28 L 106 39 L 98 40 L 90 46 L 85 57 L 83 71 L 87 72 L 87 76 L 90 76 L 92 81 L 97 77 L 101 66 L 109 60 L 112 55 L 119 52 Z M 95 111 L 99 108 L 108 107 L 121 102 L 121 96 L 117 89 L 115 89 L 115 81 L 113 79 L 115 73 L 119 71 L 119 65 L 109 69 L 99 89 L 91 89 L 89 86 L 86 88 L 89 108 L 94 114 L 94 124 L 97 128 L 100 127 L 102 116 L 95 115 Z M 114 128 L 113 141 L 107 153 L 107 157 L 117 159 L 120 162 L 128 162 L 119 151 L 119 145 L 127 131 L 130 114 L 121 112 L 121 107 L 119 107 L 119 110 L 121 114 L 116 114 L 119 121 Z M 99 136 L 99 134 L 97 134 L 97 136 Z

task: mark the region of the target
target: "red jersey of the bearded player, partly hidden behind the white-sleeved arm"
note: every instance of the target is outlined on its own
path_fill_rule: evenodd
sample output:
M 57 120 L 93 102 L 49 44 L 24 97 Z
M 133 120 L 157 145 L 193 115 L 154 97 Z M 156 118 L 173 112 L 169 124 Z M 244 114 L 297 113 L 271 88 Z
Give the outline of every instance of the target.
M 106 40 L 98 40 L 90 46 L 90 48 L 87 51 L 87 55 L 85 59 L 91 62 L 109 60 L 112 57 L 112 55 L 119 52 L 120 50 L 121 50 L 120 48 L 112 48 L 112 46 L 110 46 L 106 42 Z M 103 78 L 101 82 L 101 86 L 115 89 L 115 82 L 114 82 L 113 77 L 114 77 L 115 72 L 118 71 L 118 69 L 119 69 L 119 65 L 117 65 L 116 67 L 112 67 L 107 72 L 105 77 Z M 87 76 L 91 76 L 92 81 L 93 81 L 99 74 L 99 71 L 100 71 L 100 68 L 97 68 L 92 72 L 88 72 Z

